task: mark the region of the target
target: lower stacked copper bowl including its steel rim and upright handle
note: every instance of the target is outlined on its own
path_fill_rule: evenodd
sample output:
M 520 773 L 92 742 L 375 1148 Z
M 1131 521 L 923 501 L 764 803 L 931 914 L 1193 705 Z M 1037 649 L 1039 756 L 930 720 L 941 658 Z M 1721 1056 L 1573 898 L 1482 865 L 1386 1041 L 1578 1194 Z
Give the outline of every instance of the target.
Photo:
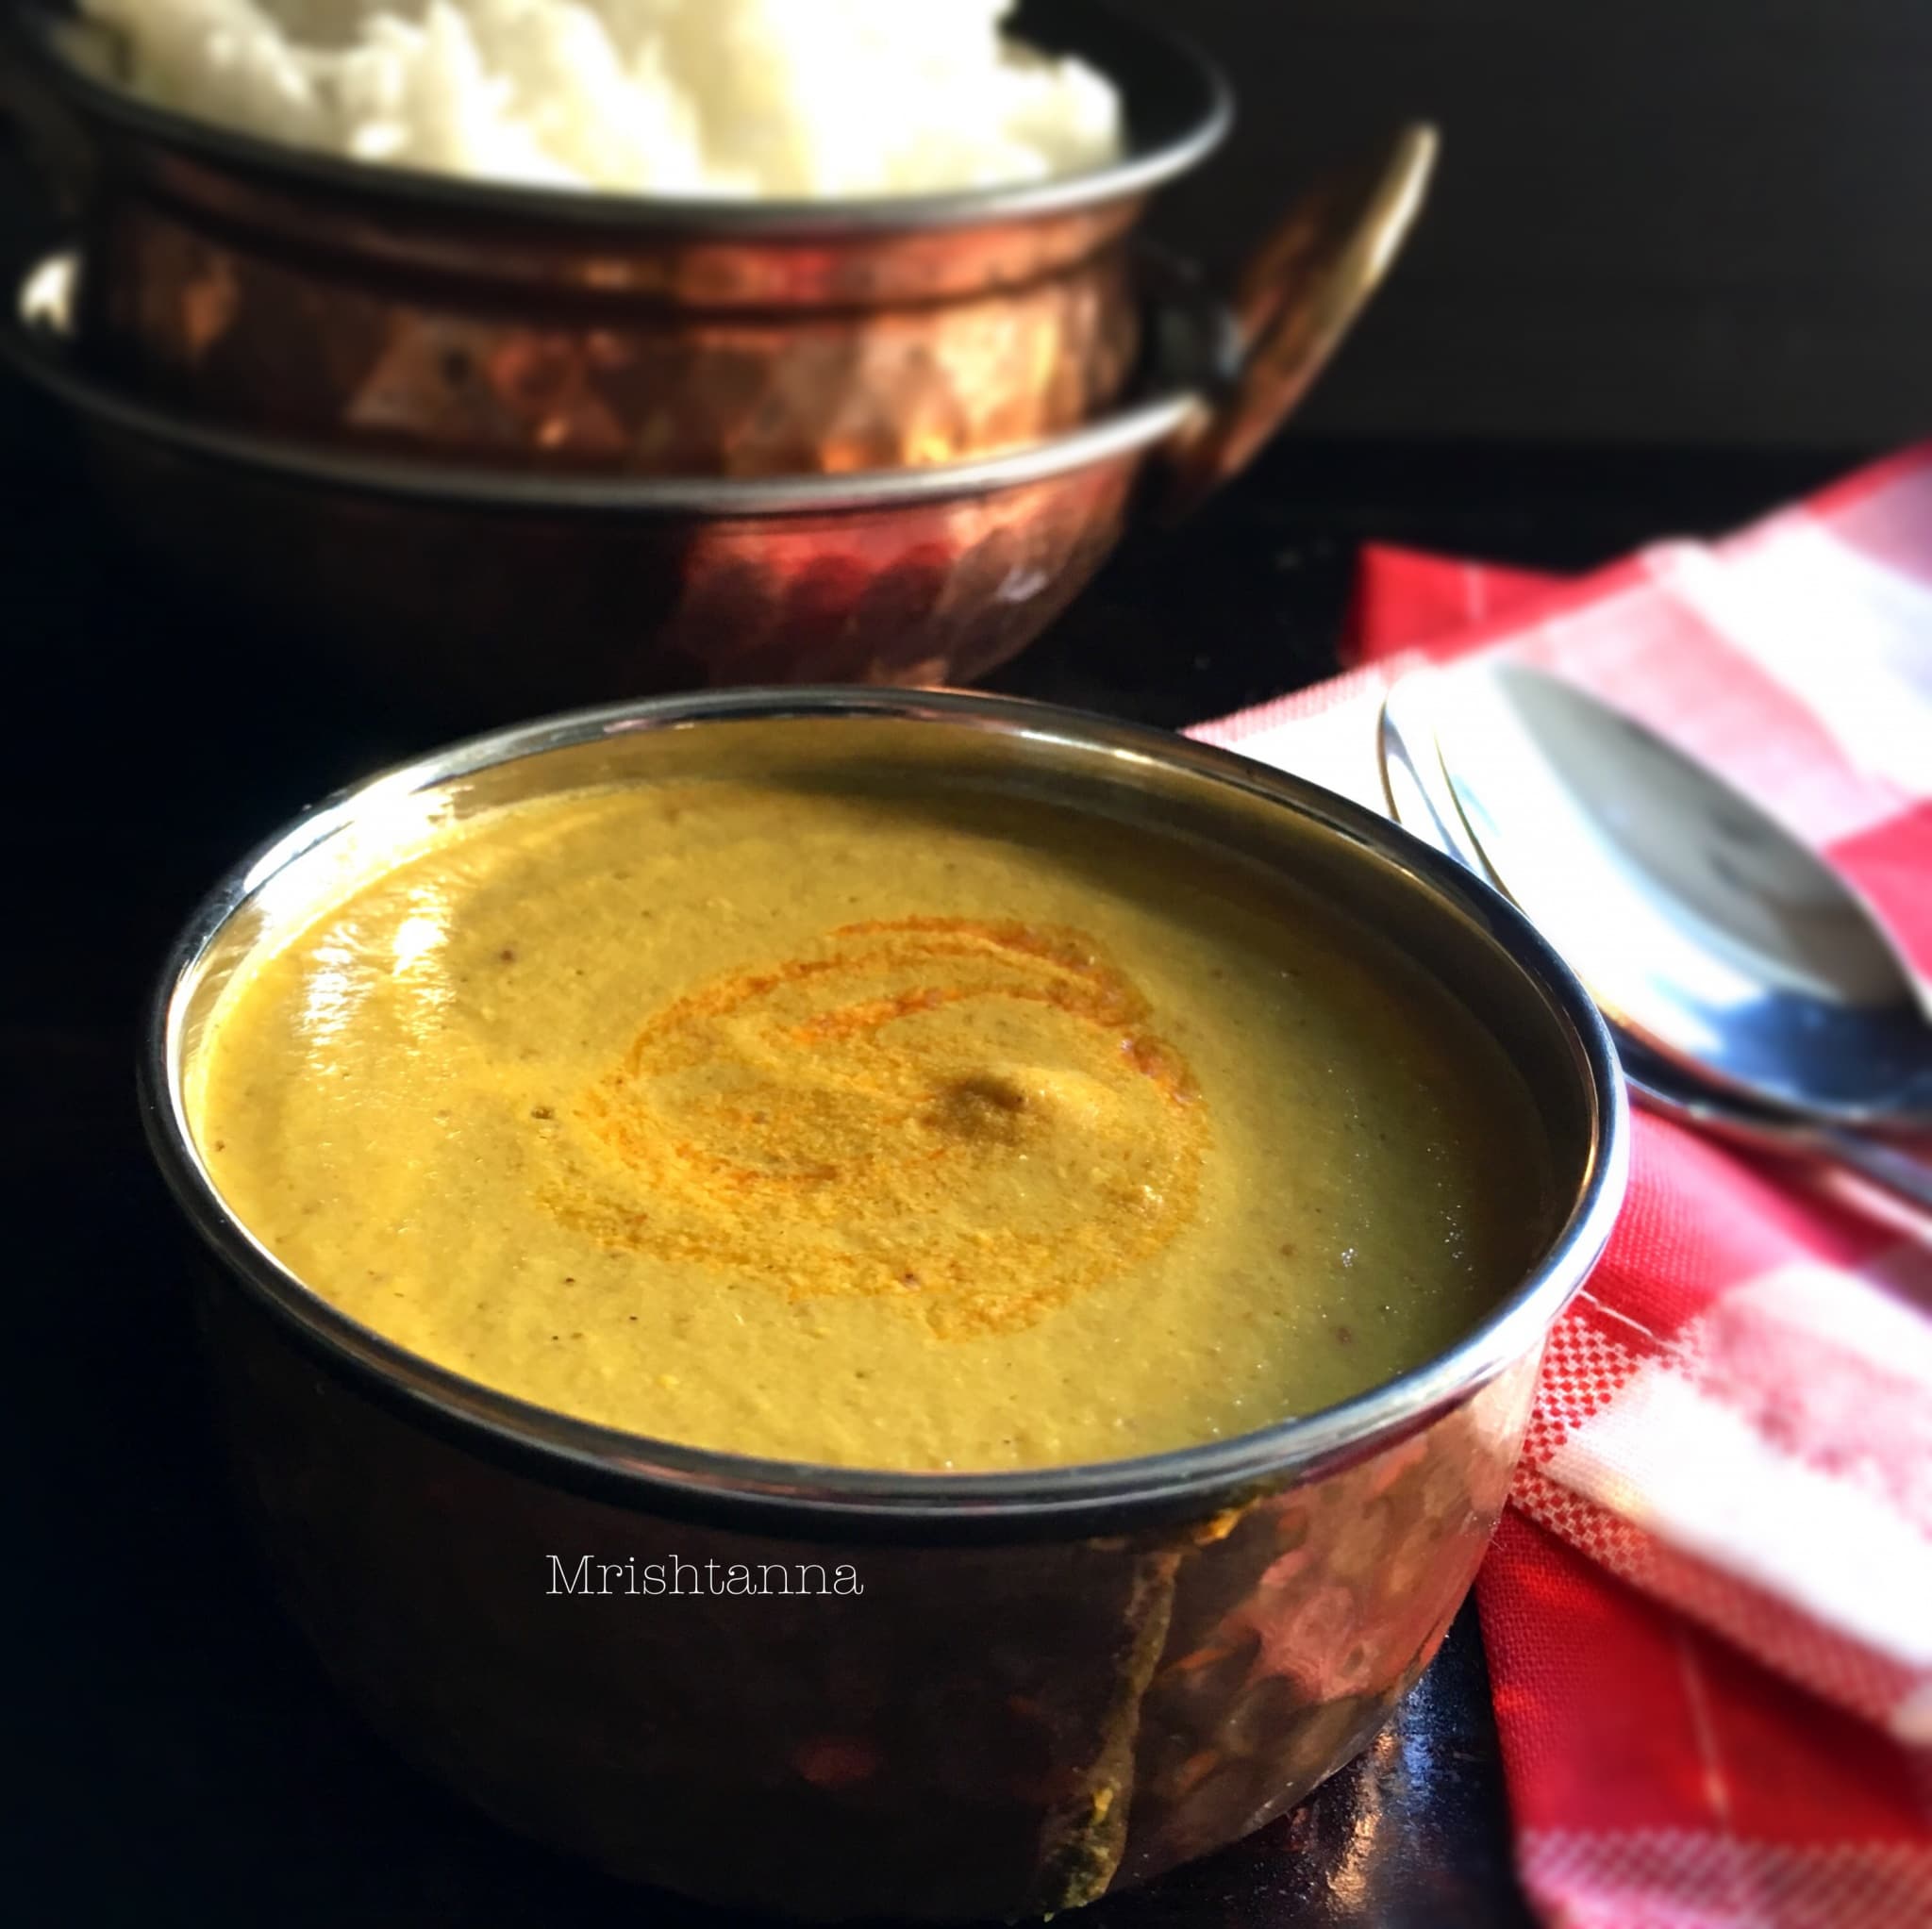
M 1414 127 L 1318 183 L 1231 311 L 1169 274 L 1111 411 L 929 467 L 589 475 L 236 429 L 97 365 L 73 253 L 23 278 L 0 359 L 79 421 L 153 556 L 462 722 L 705 684 L 962 684 L 1065 608 L 1130 512 L 1177 514 L 1254 454 L 1366 303 L 1432 158 Z

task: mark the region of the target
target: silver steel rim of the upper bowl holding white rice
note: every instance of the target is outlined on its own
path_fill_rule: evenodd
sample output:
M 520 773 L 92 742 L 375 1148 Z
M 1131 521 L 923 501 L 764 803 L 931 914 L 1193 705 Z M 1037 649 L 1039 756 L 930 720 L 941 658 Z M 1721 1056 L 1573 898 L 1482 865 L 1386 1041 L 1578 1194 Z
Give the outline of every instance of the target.
M 972 187 L 929 195 L 875 195 L 850 201 L 734 201 L 726 197 L 649 197 L 595 189 L 518 187 L 502 182 L 473 182 L 462 176 L 431 174 L 344 160 L 332 154 L 288 147 L 259 135 L 238 133 L 213 122 L 195 120 L 155 106 L 114 81 L 89 73 L 60 50 L 58 39 L 73 21 L 56 15 L 48 0 L 31 0 L 19 10 L 17 39 L 27 52 L 52 71 L 60 87 L 108 126 L 191 158 L 230 166 L 263 180 L 294 187 L 319 187 L 361 201 L 406 203 L 423 212 L 448 210 L 466 216 L 522 216 L 570 228 L 636 228 L 639 232 L 705 232 L 723 239 L 833 239 L 838 236 L 885 236 L 912 230 L 972 228 L 1032 216 L 1070 214 L 1107 201 L 1151 193 L 1204 160 L 1227 137 L 1235 122 L 1235 98 L 1221 70 L 1184 35 L 1117 14 L 1094 0 L 1053 0 L 1049 15 L 1070 15 L 1072 25 L 1097 21 L 1101 33 L 1138 42 L 1144 64 L 1173 79 L 1173 95 L 1198 98 L 1184 126 L 1144 151 L 1130 151 L 1105 168 L 1020 182 L 1010 187 Z M 1065 42 L 1080 52 L 1078 33 Z M 1090 58 L 1092 56 L 1082 56 Z M 1094 62 L 1099 64 L 1099 62 Z M 1132 143 L 1132 100 L 1119 71 L 1107 75 L 1128 106 Z

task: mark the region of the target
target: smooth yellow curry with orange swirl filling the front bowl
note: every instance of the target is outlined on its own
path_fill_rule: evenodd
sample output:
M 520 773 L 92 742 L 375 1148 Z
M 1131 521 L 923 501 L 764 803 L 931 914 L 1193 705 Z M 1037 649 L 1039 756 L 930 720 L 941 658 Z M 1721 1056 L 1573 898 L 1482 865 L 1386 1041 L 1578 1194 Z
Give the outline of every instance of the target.
M 1548 1240 L 1528 1089 L 1393 942 L 1115 801 L 767 759 L 433 826 L 236 971 L 201 1159 L 375 1332 L 692 1446 L 980 1471 L 1331 1406 Z

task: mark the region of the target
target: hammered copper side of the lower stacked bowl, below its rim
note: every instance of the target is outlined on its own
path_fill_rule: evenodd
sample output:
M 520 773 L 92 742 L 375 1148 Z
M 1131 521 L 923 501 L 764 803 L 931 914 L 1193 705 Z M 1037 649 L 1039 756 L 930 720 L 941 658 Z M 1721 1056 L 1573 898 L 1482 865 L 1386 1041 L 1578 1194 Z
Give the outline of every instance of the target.
M 966 684 L 1113 550 L 1142 456 L 985 496 L 744 519 L 309 489 L 133 440 L 137 541 L 282 645 L 452 724 L 707 684 Z

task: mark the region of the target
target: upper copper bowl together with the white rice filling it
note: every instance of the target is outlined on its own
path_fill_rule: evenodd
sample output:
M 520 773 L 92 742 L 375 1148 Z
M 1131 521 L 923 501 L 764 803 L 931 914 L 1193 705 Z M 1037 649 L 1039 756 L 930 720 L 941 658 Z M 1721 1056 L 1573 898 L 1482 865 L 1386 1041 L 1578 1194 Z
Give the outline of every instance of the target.
M 1128 388 L 1229 95 L 1097 0 L 79 0 L 15 29 L 89 363 L 234 427 L 628 475 L 1020 448 Z

